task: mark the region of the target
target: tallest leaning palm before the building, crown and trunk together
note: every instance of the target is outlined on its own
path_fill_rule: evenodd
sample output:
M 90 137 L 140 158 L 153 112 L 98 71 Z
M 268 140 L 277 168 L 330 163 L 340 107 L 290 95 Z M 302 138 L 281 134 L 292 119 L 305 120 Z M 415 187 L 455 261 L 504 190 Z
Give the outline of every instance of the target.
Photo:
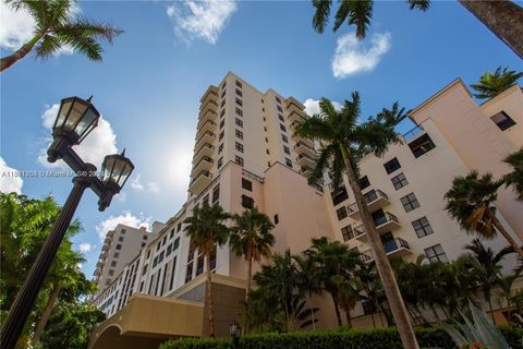
M 404 119 L 403 109 L 400 110 L 398 104 L 394 104 L 391 110 L 382 109 L 376 117 L 358 123 L 360 105 L 357 92 L 352 94 L 352 101 L 345 100 L 340 111 L 335 109 L 330 100 L 324 98 L 319 103 L 319 115 L 304 120 L 297 127 L 297 132 L 325 144 L 316 158 L 309 182 L 317 183 L 323 179 L 324 172 L 329 170 L 332 186 L 337 189 L 340 186 L 342 174 L 346 174 L 403 346 L 408 349 L 417 348 L 409 313 L 401 299 L 394 274 L 385 254 L 384 244 L 376 231 L 356 176 L 358 172 L 357 161 L 363 155 L 374 153 L 381 156 L 391 143 L 401 142 L 400 135 L 394 131 L 394 125 Z

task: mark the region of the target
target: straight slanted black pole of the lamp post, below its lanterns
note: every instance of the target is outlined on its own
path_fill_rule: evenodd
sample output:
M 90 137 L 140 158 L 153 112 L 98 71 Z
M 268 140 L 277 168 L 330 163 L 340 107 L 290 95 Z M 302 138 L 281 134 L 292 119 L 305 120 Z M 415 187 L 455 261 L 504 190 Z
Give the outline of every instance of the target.
M 2 326 L 0 345 L 3 349 L 13 349 L 15 347 L 38 296 L 38 291 L 44 284 L 47 272 L 57 255 L 60 243 L 62 242 L 74 212 L 78 206 L 80 200 L 82 198 L 84 191 L 90 185 L 90 180 L 84 177 L 75 177 L 73 182 L 73 189 L 52 227 L 52 231 L 41 246 L 29 274 L 11 305 L 5 323 Z

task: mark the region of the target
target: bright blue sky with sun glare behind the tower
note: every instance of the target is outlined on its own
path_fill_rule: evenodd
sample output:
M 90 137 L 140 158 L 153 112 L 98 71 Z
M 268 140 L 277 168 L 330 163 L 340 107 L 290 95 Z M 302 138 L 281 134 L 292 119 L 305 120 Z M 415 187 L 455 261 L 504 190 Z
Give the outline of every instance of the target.
M 202 17 L 198 9 L 204 7 Z M 87 1 L 75 11 L 125 33 L 106 46 L 101 63 L 65 51 L 47 61 L 27 57 L 1 74 L 0 165 L 2 171 L 47 170 L 38 158 L 48 144 L 52 106 L 68 96 L 94 95 L 106 122 L 86 140 L 82 154 L 99 166 L 102 155 L 125 147 L 136 170 L 106 212 L 97 212 L 92 192 L 76 212 L 84 231 L 75 242 L 77 249 L 83 243 L 87 276 L 99 253 L 100 229 L 117 221 L 166 221 L 180 208 L 199 97 L 228 71 L 260 91 L 272 87 L 302 101 L 342 101 L 358 91 L 367 117 L 396 100 L 414 108 L 458 76 L 471 84 L 498 65 L 523 68 L 457 2 L 434 2 L 427 12 L 410 11 L 400 1 L 376 2 L 362 43 L 352 39 L 354 28 L 345 25 L 338 33 L 330 27 L 315 33 L 309 1 L 199 2 L 192 8 L 167 1 Z M 21 13 L 0 15 L 7 24 L 0 31 L 5 56 L 27 37 L 31 21 Z M 21 184 L 1 180 L 2 188 Z M 62 204 L 70 189 L 71 178 L 39 177 L 23 178 L 21 190 L 33 197 L 51 193 Z

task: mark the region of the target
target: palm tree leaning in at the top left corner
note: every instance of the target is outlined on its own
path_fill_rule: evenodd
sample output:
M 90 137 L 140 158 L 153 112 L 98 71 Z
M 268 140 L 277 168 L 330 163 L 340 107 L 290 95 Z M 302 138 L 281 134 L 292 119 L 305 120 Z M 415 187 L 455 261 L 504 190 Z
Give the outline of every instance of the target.
M 123 33 L 105 23 L 72 16 L 74 0 L 8 0 L 15 10 L 27 11 L 35 20 L 34 36 L 20 49 L 0 60 L 3 72 L 35 49 L 39 59 L 46 59 L 69 47 L 85 55 L 89 60 L 100 61 L 104 51 L 99 39 L 112 43 L 113 37 Z M 36 48 L 35 48 L 36 46 Z

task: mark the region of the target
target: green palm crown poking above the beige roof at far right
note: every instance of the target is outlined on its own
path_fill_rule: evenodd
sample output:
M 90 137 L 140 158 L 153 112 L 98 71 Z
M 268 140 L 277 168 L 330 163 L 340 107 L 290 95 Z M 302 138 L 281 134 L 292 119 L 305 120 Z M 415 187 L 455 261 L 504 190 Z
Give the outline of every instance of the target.
M 471 88 L 477 91 L 474 97 L 479 99 L 494 98 L 503 91 L 514 86 L 523 72 L 508 71 L 508 68 L 498 67 L 494 73 L 486 71 L 479 77 L 477 84 L 471 84 Z

